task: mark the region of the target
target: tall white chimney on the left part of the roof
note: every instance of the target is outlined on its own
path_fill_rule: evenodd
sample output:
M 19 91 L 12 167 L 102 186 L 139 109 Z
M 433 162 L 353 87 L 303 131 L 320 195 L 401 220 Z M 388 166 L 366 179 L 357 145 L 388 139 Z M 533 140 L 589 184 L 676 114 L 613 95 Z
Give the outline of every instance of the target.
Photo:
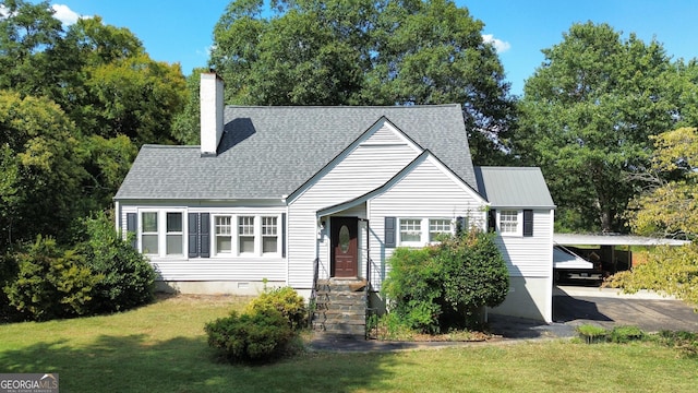
M 201 155 L 216 156 L 222 136 L 222 79 L 215 72 L 201 74 Z

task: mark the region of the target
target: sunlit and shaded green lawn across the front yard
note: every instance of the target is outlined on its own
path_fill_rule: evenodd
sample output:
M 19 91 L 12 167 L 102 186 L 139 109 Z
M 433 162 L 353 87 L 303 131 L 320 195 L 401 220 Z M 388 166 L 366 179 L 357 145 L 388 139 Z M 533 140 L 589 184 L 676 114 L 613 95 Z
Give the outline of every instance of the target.
M 688 392 L 698 359 L 647 342 L 477 344 L 219 362 L 203 325 L 240 298 L 177 297 L 97 318 L 0 325 L 0 372 L 58 372 L 67 392 Z

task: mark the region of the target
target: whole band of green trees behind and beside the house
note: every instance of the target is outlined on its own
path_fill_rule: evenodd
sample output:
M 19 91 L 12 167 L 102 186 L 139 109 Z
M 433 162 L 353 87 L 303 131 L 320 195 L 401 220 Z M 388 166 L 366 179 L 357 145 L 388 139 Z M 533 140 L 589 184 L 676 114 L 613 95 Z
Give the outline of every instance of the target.
M 695 237 L 696 59 L 574 24 L 514 96 L 482 29 L 450 0 L 236 0 L 208 62 L 228 104 L 458 103 L 476 165 L 542 168 L 558 231 Z M 64 27 L 48 2 L 0 1 L 0 253 L 72 247 L 141 145 L 197 144 L 201 72 L 98 16 Z

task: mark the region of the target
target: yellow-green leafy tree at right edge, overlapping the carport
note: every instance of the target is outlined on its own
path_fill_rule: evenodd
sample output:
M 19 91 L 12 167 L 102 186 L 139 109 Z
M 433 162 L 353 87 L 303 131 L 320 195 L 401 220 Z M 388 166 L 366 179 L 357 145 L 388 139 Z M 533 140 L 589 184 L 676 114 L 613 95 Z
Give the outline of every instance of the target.
M 698 130 L 681 128 L 652 139 L 650 187 L 630 204 L 630 227 L 640 235 L 696 241 Z M 659 247 L 647 254 L 646 263 L 612 276 L 607 285 L 658 290 L 698 306 L 698 246 Z

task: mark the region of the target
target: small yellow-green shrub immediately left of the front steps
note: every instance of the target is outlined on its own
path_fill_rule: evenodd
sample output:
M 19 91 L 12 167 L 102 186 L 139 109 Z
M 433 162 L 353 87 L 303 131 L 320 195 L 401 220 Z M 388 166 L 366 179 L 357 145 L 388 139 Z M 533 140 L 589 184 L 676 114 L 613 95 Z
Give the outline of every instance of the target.
M 248 303 L 244 312 L 255 313 L 268 309 L 277 310 L 292 330 L 305 326 L 308 318 L 305 300 L 291 287 L 265 288 L 260 296 Z

